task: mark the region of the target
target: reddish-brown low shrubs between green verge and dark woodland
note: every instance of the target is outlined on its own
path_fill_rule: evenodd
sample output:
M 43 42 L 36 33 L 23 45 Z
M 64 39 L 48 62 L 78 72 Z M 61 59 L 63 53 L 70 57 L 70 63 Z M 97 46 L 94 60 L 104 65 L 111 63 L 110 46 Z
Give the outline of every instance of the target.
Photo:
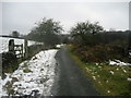
M 85 62 L 104 62 L 112 59 L 124 58 L 124 49 L 118 46 L 97 45 L 93 47 L 78 47 L 74 52 Z

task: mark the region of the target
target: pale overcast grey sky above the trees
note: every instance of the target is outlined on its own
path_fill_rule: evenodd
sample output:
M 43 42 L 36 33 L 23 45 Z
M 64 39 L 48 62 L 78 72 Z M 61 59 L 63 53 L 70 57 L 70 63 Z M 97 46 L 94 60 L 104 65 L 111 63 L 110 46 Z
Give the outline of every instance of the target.
M 128 2 L 3 2 L 2 33 L 27 34 L 43 17 L 61 22 L 66 33 L 76 22 L 98 21 L 105 29 L 129 28 Z

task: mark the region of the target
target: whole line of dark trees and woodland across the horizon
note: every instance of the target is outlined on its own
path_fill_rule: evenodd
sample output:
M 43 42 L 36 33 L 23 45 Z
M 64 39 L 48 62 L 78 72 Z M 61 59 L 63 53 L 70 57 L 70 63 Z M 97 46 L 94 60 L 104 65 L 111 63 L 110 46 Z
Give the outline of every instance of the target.
M 109 32 L 106 32 L 98 22 L 92 23 L 86 21 L 76 23 L 76 25 L 70 29 L 70 35 L 64 35 L 62 32 L 63 28 L 60 22 L 44 17 L 41 22 L 37 23 L 37 26 L 32 28 L 27 36 L 24 36 L 24 38 L 44 42 L 45 46 L 72 42 L 79 46 L 108 44 L 124 48 L 131 47 L 130 30 L 118 32 L 111 28 Z M 20 33 L 16 30 L 12 32 L 12 37 L 20 37 Z

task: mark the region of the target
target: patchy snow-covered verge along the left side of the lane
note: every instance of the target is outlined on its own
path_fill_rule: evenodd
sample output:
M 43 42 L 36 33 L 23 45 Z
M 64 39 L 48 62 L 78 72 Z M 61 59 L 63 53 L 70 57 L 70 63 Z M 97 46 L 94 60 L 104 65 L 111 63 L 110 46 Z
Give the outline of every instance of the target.
M 38 94 L 43 96 L 50 96 L 57 51 L 56 49 L 40 51 L 31 60 L 22 62 L 14 73 L 7 73 L 7 77 L 0 79 L 0 85 L 2 85 L 0 96 L 9 94 L 8 83 L 12 83 L 14 95 L 31 95 L 33 90 L 38 90 Z

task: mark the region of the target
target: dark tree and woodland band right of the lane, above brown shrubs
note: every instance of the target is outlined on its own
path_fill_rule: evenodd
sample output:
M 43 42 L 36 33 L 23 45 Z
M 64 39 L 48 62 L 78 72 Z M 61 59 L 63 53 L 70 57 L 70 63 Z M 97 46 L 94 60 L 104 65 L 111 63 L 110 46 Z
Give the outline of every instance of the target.
M 78 23 L 71 30 L 72 42 L 87 46 L 99 44 L 116 44 L 118 46 L 129 46 L 131 42 L 130 30 L 104 30 L 103 26 L 96 23 Z

